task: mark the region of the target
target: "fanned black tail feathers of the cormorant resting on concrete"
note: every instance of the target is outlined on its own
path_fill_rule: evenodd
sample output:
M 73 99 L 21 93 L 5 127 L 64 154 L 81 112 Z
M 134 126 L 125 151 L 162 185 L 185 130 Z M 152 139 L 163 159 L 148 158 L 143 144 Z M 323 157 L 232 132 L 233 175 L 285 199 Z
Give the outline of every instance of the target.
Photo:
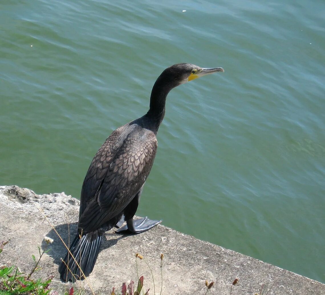
M 102 234 L 98 231 L 88 232 L 80 237 L 77 233 L 62 264 L 59 267 L 61 280 L 67 282 L 84 279 L 93 271 Z

